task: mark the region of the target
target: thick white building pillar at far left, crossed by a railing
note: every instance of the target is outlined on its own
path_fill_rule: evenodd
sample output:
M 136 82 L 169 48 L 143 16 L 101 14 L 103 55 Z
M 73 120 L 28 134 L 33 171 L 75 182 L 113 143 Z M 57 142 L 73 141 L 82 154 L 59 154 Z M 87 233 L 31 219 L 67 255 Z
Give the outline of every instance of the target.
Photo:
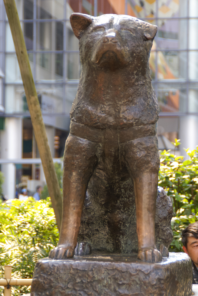
M 1 131 L 1 158 L 22 158 L 22 118 L 5 119 L 5 130 Z M 2 164 L 1 171 L 4 173 L 3 194 L 7 199 L 15 198 L 15 165 Z

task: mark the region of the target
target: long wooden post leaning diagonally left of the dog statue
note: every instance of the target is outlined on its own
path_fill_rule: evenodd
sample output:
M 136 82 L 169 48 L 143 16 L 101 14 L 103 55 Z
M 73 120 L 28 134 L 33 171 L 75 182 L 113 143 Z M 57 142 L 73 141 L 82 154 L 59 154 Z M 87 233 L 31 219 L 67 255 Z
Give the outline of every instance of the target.
M 19 16 L 17 13 L 17 7 L 14 0 L 4 0 L 4 4 L 10 29 L 12 32 L 12 38 L 14 41 L 17 59 L 20 67 L 27 104 L 34 128 L 35 139 L 38 145 L 49 195 L 51 197 L 52 206 L 56 216 L 57 226 L 60 230 L 62 216 L 62 197 L 55 168 L 53 165 L 53 160 L 46 135 L 46 129 L 43 123 L 40 105 L 38 102 L 38 96 L 33 81 L 33 76 L 30 69 L 30 63 L 27 55 L 25 41 L 23 38 Z

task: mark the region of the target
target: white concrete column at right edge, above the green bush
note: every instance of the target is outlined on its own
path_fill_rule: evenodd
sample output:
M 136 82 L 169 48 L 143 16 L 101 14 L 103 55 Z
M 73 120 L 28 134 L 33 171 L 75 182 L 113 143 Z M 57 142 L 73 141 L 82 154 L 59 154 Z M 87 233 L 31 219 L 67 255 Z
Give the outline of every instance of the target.
M 180 117 L 179 139 L 181 140 L 180 152 L 187 159 L 186 152 L 183 148 L 194 150 L 198 145 L 198 116 L 185 115 Z

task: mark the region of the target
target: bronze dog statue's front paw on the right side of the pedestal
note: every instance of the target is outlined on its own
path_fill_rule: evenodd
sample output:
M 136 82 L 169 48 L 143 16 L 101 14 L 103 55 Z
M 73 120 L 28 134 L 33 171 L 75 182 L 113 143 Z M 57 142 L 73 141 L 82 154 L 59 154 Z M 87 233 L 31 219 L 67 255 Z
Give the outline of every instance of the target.
M 138 250 L 137 258 L 146 262 L 161 262 L 162 254 L 157 249 L 142 248 Z

